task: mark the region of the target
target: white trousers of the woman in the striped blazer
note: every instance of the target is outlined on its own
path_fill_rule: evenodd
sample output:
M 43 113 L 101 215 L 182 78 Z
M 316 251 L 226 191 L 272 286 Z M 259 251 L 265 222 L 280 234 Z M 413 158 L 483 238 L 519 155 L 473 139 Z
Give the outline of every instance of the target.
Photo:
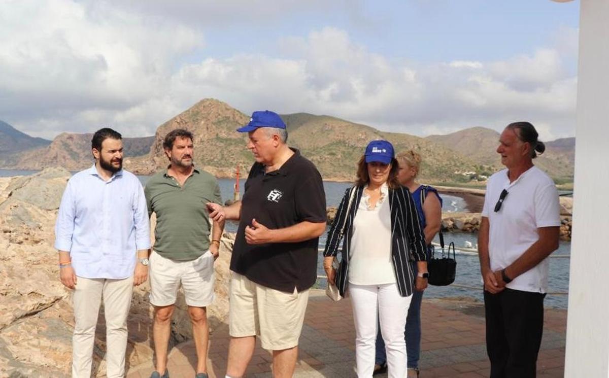
M 387 350 L 389 378 L 404 378 L 407 370 L 404 327 L 410 306 L 410 296 L 400 296 L 396 284 L 349 284 L 353 321 L 355 323 L 355 360 L 357 377 L 372 377 L 375 368 L 375 340 L 378 320 Z

